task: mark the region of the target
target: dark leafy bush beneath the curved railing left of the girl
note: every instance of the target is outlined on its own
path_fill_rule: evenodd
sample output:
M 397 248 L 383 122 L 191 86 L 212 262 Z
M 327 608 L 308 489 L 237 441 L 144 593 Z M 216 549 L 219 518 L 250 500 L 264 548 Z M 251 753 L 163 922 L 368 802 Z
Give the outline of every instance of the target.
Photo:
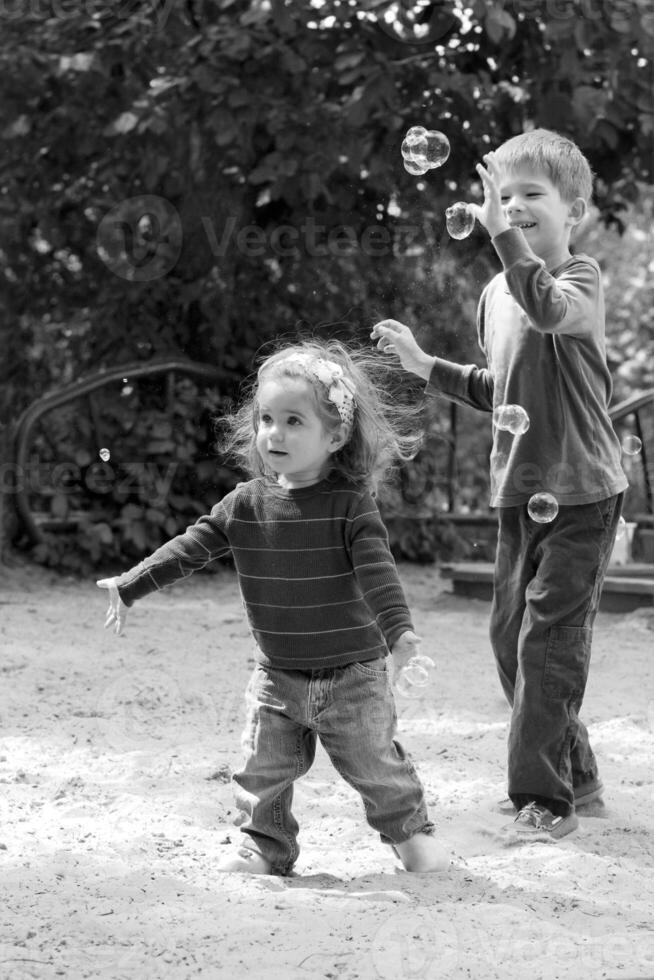
M 99 424 L 78 403 L 45 416 L 30 463 L 37 560 L 84 573 L 124 566 L 210 510 L 239 479 L 213 449 L 224 407 L 186 378 L 167 398 L 158 379 L 126 379 L 100 390 Z

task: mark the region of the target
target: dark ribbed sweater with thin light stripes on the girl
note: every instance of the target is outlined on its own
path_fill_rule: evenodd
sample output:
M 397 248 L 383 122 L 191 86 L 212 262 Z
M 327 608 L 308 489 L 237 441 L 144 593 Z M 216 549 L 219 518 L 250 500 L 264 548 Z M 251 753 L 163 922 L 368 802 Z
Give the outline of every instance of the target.
M 117 580 L 126 605 L 231 552 L 257 659 L 311 670 L 384 657 L 411 617 L 371 494 L 332 477 L 239 484 Z

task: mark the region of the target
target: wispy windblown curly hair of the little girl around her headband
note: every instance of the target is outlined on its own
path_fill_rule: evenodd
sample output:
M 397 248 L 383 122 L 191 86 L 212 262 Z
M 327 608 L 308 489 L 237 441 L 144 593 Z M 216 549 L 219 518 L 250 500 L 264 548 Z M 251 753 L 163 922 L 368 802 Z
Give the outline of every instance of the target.
M 316 411 L 327 432 L 343 425 L 329 400 L 328 388 L 298 363 L 315 358 L 338 364 L 353 385 L 354 417 L 347 441 L 331 457 L 332 472 L 373 492 L 397 463 L 407 462 L 422 441 L 422 408 L 407 398 L 407 376 L 397 361 L 370 348 L 346 347 L 338 340 L 310 339 L 281 347 L 260 364 L 247 383 L 245 398 L 231 415 L 219 419 L 219 449 L 251 476 L 275 479 L 257 452 L 258 392 L 263 379 L 303 377 L 313 390 Z M 295 358 L 295 359 L 294 359 Z

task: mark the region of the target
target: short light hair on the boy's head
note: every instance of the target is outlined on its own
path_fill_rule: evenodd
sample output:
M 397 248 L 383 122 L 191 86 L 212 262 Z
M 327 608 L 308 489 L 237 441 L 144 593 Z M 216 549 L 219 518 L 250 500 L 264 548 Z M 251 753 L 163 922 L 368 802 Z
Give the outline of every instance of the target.
M 576 143 L 551 129 L 532 129 L 507 140 L 496 151 L 497 162 L 507 170 L 533 167 L 546 174 L 565 201 L 593 193 L 593 172 Z

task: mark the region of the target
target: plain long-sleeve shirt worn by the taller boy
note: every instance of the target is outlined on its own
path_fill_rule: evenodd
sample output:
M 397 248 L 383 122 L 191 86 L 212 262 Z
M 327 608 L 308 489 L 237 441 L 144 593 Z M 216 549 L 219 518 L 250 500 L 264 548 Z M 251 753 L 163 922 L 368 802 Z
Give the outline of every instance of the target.
M 494 426 L 492 507 L 523 504 L 540 491 L 562 505 L 620 493 L 628 484 L 608 414 L 599 266 L 573 255 L 550 273 L 517 229 L 493 244 L 504 271 L 484 289 L 477 318 L 488 366 L 436 358 L 428 390 L 482 411 L 527 412 L 522 434 Z

